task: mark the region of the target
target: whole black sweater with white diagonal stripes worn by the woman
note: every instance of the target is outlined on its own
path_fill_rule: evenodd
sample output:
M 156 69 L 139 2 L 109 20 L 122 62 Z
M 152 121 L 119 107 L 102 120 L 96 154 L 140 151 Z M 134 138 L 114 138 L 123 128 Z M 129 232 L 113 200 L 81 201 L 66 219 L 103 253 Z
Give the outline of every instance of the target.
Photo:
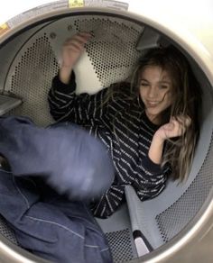
M 116 168 L 116 177 L 106 195 L 92 208 L 94 215 L 106 218 L 116 211 L 125 198 L 125 185 L 132 185 L 144 201 L 162 192 L 169 167 L 161 168 L 148 157 L 153 134 L 158 126 L 149 121 L 140 100 L 124 98 L 130 93 L 125 86 L 123 95 L 103 101 L 106 88 L 95 95 L 76 95 L 75 74 L 69 85 L 54 77 L 49 93 L 51 115 L 57 122 L 74 122 L 85 127 L 106 145 Z

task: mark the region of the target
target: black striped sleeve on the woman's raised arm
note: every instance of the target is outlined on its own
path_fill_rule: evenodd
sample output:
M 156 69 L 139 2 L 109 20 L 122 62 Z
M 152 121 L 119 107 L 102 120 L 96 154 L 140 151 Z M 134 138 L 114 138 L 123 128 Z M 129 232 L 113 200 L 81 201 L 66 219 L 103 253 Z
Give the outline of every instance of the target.
M 59 76 L 52 80 L 51 90 L 48 95 L 50 112 L 57 122 L 74 122 L 83 124 L 91 118 L 101 117 L 104 95 L 102 89 L 95 95 L 83 93 L 76 95 L 75 74 L 72 72 L 69 84 L 63 84 Z

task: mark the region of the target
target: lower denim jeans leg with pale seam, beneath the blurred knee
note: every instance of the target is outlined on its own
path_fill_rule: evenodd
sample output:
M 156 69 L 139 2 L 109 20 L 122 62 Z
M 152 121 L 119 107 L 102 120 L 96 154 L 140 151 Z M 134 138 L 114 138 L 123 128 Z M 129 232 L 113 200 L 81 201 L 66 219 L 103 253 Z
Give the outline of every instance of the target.
M 52 262 L 112 262 L 105 236 L 82 202 L 70 202 L 34 177 L 0 170 L 0 213 L 18 243 Z

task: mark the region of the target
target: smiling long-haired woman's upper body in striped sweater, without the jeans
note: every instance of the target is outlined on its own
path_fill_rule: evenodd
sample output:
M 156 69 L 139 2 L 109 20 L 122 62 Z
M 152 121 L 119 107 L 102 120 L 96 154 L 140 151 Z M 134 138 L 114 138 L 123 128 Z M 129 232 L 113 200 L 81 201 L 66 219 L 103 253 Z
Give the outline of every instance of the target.
M 112 186 L 92 205 L 106 218 L 132 185 L 144 201 L 162 192 L 167 178 L 185 179 L 199 138 L 200 88 L 190 65 L 173 47 L 153 49 L 139 60 L 131 80 L 96 95 L 76 95 L 73 67 L 90 34 L 64 43 L 59 75 L 49 94 L 57 122 L 75 122 L 106 145 L 116 168 Z

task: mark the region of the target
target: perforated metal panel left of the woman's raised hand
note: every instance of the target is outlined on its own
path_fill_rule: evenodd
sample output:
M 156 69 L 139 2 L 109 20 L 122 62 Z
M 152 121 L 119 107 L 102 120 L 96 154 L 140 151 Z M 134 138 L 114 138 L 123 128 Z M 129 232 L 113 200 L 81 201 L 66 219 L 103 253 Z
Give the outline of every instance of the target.
M 10 92 L 21 97 L 23 105 L 11 113 L 29 116 L 40 125 L 51 123 L 47 95 L 58 68 L 46 33 L 31 45 L 23 47 L 22 55 L 18 61 L 15 60 L 14 73 L 9 81 Z

